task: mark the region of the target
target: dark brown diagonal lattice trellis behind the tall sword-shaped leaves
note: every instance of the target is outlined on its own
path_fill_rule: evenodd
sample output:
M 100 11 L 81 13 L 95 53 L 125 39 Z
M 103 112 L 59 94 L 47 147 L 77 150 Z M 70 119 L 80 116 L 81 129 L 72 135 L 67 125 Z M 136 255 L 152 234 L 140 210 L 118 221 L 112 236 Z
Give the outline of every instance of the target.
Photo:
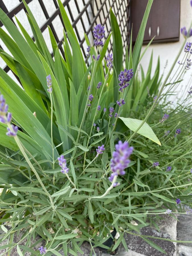
M 0 7 L 3 11 L 14 21 L 14 15 L 18 15 L 22 10 L 26 12 L 24 8 L 24 4 L 22 0 L 13 0 L 15 1 L 15 6 L 13 9 L 9 10 L 6 7 L 6 0 L 0 0 Z M 63 24 L 63 20 L 61 17 L 61 13 L 58 7 L 57 0 L 49 0 L 52 1 L 55 6 L 55 11 L 49 15 L 48 10 L 46 9 L 46 0 L 26 0 L 27 4 L 36 1 L 40 5 L 46 22 L 42 24 L 41 31 L 44 32 L 47 29 L 47 26 L 50 26 L 55 39 L 57 41 L 58 47 L 65 57 L 63 51 L 63 38 L 59 38 L 58 33 L 56 32 L 56 28 L 54 27 L 54 19 L 59 16 L 61 23 Z M 17 3 L 16 3 L 17 2 Z M 62 1 L 63 6 L 65 7 L 69 18 L 71 19 L 71 24 L 75 29 L 75 33 L 79 40 L 80 47 L 82 49 L 83 55 L 86 56 L 86 42 L 84 38 L 84 33 L 89 37 L 90 41 L 93 41 L 92 29 L 96 23 L 101 23 L 105 25 L 106 33 L 105 37 L 107 38 L 111 32 L 110 27 L 110 7 L 112 7 L 115 16 L 117 17 L 117 21 L 119 24 L 119 28 L 121 30 L 121 36 L 123 40 L 123 53 L 125 57 L 126 47 L 129 43 L 129 0 L 65 0 Z M 22 20 L 20 20 L 22 22 Z M 16 24 L 17 25 L 17 24 Z M 0 22 L 0 26 L 3 24 Z M 64 24 L 63 24 L 64 27 Z M 0 45 L 1 47 L 1 45 Z M 1 47 L 3 49 L 3 47 Z M 108 51 L 112 49 L 112 38 L 110 40 L 110 44 L 108 47 Z M 8 72 L 9 67 L 5 66 L 3 69 Z

